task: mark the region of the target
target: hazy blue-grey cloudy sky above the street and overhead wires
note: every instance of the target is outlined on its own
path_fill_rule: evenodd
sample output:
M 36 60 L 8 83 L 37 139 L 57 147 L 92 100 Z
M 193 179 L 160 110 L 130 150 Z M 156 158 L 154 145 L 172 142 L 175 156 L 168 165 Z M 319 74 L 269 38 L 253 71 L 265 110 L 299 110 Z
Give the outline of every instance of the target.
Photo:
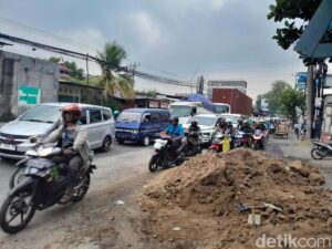
M 127 52 L 124 65 L 185 82 L 245 80 L 248 95 L 270 90 L 274 81 L 295 83 L 305 71 L 292 48 L 272 35 L 280 23 L 267 19 L 273 0 L 0 0 L 0 32 L 76 52 L 96 54 L 116 41 Z M 17 45 L 3 50 L 35 58 L 44 51 Z M 64 60 L 71 58 L 62 56 Z M 82 68 L 84 61 L 76 61 Z M 331 66 L 330 66 L 331 71 Z M 97 74 L 97 65 L 90 64 Z M 138 90 L 190 93 L 180 87 L 135 79 Z

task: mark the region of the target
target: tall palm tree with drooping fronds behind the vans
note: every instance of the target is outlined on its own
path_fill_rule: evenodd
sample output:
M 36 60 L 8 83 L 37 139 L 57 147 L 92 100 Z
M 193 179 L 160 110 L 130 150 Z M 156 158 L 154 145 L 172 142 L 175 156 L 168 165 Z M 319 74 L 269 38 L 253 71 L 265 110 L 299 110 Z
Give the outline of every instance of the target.
M 126 59 L 127 54 L 122 45 L 115 41 L 107 42 L 102 52 L 98 52 L 97 58 L 102 61 L 107 62 L 101 63 L 102 80 L 100 86 L 105 89 L 112 96 L 118 91 L 122 96 L 134 97 L 134 82 L 131 77 L 120 76 L 112 71 L 112 68 L 121 66 L 121 63 Z

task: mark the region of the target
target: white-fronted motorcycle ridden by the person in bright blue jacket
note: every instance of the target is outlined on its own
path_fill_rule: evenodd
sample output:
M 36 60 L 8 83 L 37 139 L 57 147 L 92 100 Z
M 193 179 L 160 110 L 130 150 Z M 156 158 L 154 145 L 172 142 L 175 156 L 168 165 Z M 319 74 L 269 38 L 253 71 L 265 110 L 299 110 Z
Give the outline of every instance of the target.
M 180 165 L 186 159 L 186 154 L 179 148 L 176 153 L 172 153 L 172 136 L 160 134 L 154 144 L 154 154 L 148 162 L 148 169 L 153 173 L 158 167 L 167 168 L 172 165 Z

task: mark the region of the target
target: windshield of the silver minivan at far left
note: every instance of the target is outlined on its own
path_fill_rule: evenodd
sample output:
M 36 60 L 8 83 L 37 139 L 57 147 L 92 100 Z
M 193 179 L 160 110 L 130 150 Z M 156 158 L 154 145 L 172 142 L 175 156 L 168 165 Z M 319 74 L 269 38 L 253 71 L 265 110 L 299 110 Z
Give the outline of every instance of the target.
M 61 107 L 51 105 L 37 105 L 20 117 L 20 121 L 54 123 L 61 117 Z

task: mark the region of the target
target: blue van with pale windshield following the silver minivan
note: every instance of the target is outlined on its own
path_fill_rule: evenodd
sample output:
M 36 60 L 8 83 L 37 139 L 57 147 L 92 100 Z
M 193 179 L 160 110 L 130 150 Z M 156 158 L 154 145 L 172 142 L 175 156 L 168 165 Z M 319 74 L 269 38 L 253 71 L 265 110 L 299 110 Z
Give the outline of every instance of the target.
M 166 129 L 169 112 L 163 108 L 127 108 L 117 117 L 115 138 L 120 144 L 125 141 L 149 145 L 156 134 Z

